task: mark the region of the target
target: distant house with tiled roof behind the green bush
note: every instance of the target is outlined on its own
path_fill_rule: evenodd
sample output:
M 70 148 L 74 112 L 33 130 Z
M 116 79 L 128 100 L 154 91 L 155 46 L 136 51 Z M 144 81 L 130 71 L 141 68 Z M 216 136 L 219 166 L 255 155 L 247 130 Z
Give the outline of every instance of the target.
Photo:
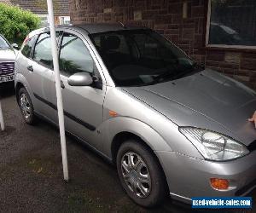
M 69 4 L 68 0 L 53 0 L 55 9 L 55 24 L 65 25 L 70 23 Z M 41 26 L 48 26 L 48 10 L 46 0 L 0 0 L 0 3 L 10 3 L 19 6 L 22 9 L 32 11 L 38 14 L 41 21 Z

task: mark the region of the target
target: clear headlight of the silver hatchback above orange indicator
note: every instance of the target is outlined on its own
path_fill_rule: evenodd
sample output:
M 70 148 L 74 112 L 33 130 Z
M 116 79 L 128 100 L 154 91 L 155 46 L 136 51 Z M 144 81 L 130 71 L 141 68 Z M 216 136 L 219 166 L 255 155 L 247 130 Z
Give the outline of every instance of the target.
M 202 156 L 209 160 L 225 161 L 249 153 L 247 147 L 228 136 L 193 127 L 180 127 L 180 132 L 191 141 Z

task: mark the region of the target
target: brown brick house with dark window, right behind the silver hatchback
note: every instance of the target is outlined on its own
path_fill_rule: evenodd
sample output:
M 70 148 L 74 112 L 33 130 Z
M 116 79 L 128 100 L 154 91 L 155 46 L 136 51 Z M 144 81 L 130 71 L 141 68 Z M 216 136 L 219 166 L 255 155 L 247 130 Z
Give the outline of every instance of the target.
M 199 63 L 256 89 L 256 1 L 69 0 L 73 24 L 148 26 Z

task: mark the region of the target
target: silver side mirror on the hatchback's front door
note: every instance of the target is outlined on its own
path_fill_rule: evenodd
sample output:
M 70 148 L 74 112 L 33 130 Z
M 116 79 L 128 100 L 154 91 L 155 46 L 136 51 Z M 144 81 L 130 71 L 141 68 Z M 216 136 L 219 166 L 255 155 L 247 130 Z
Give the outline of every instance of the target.
M 67 79 L 70 86 L 90 86 L 93 80 L 89 72 L 78 72 Z

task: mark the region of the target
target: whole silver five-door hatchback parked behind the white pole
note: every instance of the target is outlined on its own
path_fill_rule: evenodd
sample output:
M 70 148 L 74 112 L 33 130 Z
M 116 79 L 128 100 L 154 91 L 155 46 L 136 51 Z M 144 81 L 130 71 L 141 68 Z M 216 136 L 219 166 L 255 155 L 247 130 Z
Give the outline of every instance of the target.
M 171 195 L 243 196 L 256 184 L 256 93 L 197 65 L 143 27 L 58 26 L 67 132 L 116 164 L 125 192 L 154 206 Z M 31 32 L 15 63 L 27 124 L 58 124 L 49 28 Z

